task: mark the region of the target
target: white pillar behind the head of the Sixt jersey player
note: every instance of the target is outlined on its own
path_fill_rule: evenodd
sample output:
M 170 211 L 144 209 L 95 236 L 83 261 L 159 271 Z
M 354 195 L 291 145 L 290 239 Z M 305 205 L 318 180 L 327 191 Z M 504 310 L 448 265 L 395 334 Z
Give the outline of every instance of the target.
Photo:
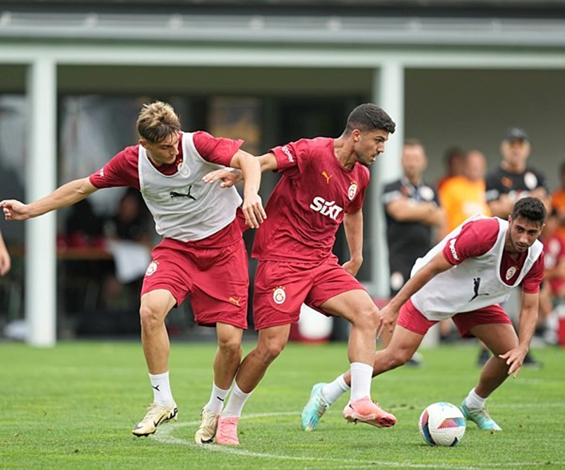
M 404 141 L 404 67 L 398 61 L 386 61 L 380 71 L 375 71 L 373 102 L 383 108 L 396 123 L 396 131 L 388 138 L 385 152 L 375 162 L 371 173 L 371 221 L 373 250 L 371 272 L 377 296 L 387 297 L 388 249 L 386 247 L 386 222 L 383 215 L 381 193 L 383 184 L 400 178 L 400 155 Z M 376 170 L 376 171 L 375 171 Z

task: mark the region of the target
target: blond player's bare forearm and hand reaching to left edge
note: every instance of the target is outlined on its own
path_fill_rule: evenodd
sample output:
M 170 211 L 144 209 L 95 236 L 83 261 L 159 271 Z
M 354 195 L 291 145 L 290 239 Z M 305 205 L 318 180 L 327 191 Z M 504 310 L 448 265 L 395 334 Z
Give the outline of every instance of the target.
M 6 220 L 26 220 L 78 203 L 79 200 L 88 198 L 95 191 L 97 191 L 97 188 L 90 183 L 90 179 L 76 179 L 33 203 L 23 204 L 19 200 L 6 199 L 0 201 L 0 207 L 4 210 Z

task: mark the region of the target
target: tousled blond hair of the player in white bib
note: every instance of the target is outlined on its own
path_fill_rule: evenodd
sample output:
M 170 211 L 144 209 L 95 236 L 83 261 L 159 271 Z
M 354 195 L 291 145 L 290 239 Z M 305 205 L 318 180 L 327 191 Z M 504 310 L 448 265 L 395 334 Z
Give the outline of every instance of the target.
M 155 101 L 141 107 L 137 119 L 137 131 L 141 138 L 151 143 L 160 143 L 180 130 L 179 116 L 170 104 Z

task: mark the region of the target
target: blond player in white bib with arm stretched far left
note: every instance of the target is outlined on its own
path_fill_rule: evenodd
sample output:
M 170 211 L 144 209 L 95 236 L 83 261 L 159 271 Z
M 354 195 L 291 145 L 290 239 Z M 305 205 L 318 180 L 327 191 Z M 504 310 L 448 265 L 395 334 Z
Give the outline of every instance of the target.
M 144 104 L 137 120 L 138 145 L 126 147 L 100 171 L 66 183 L 30 204 L 4 200 L 7 220 L 25 220 L 87 198 L 100 188 L 131 186 L 141 191 L 162 241 L 154 248 L 141 291 L 141 342 L 154 401 L 134 435 L 155 433 L 160 423 L 177 419 L 169 383 L 167 313 L 190 294 L 196 323 L 215 326 L 218 352 L 210 401 L 202 411 L 198 443 L 213 440 L 223 400 L 241 361 L 247 327 L 247 254 L 237 211 L 242 199 L 234 188 L 210 185 L 211 169 L 234 167 L 245 175 L 245 222 L 257 228 L 266 217 L 258 196 L 258 160 L 240 150 L 242 140 L 181 131 L 174 109 L 163 102 Z M 210 435 L 210 432 L 213 434 Z

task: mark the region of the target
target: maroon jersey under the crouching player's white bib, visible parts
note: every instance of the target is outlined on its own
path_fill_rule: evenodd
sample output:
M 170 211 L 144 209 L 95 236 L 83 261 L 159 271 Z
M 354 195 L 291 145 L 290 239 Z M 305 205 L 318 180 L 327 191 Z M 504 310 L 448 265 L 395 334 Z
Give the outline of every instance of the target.
M 446 260 L 452 265 L 463 263 L 467 258 L 479 257 L 487 253 L 496 242 L 496 237 L 499 233 L 499 223 L 496 222 L 494 217 L 485 219 L 474 220 L 463 225 L 458 236 L 455 237 L 456 241 L 453 244 L 455 254 L 451 251 L 451 243 L 446 243 L 444 246 L 444 256 Z M 456 259 L 456 257 L 457 259 Z M 521 253 L 517 260 L 510 257 L 506 252 L 502 255 L 500 263 L 500 277 L 509 286 L 516 282 L 520 270 L 522 269 L 528 253 Z M 515 267 L 514 275 L 506 279 L 505 273 L 511 268 Z M 535 294 L 540 291 L 540 284 L 543 279 L 544 271 L 544 255 L 540 255 L 535 261 L 528 274 L 522 279 L 521 286 L 523 291 L 529 294 Z

